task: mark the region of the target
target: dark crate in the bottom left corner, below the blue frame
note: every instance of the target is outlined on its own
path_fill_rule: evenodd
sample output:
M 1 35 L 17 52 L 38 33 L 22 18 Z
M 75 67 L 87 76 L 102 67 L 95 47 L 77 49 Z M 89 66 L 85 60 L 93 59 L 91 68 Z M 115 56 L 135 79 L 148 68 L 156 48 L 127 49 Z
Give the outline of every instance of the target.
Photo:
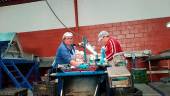
M 0 90 L 0 96 L 28 96 L 26 88 L 5 88 Z

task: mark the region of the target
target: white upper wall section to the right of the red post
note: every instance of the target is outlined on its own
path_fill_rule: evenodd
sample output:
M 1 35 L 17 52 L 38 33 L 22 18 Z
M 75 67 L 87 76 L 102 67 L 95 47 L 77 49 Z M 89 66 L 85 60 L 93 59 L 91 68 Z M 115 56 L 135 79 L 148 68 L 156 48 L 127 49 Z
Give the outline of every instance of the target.
M 95 25 L 170 16 L 170 0 L 79 0 L 79 24 Z

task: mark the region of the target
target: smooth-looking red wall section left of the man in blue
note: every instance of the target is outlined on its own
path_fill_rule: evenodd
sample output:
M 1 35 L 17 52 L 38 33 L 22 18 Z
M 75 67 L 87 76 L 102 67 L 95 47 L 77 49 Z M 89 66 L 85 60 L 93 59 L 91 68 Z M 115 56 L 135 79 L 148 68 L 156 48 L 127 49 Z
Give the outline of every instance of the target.
M 64 32 L 67 29 L 52 29 L 18 34 L 21 46 L 26 53 L 33 53 L 41 57 L 54 56 Z M 75 37 L 78 40 L 78 36 Z

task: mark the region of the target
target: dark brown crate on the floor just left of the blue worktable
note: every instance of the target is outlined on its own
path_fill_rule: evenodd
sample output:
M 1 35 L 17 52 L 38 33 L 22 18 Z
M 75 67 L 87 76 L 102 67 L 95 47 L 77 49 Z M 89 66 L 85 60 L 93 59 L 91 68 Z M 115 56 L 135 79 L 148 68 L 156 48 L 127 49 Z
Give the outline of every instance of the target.
M 57 96 L 57 82 L 39 81 L 33 83 L 34 96 Z

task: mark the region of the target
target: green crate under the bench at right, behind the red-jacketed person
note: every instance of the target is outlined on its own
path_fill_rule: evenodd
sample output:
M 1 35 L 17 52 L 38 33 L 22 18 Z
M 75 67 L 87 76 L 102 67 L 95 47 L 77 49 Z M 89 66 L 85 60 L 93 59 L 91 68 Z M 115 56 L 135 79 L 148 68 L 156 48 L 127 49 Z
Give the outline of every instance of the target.
M 134 83 L 148 83 L 146 68 L 132 68 Z

